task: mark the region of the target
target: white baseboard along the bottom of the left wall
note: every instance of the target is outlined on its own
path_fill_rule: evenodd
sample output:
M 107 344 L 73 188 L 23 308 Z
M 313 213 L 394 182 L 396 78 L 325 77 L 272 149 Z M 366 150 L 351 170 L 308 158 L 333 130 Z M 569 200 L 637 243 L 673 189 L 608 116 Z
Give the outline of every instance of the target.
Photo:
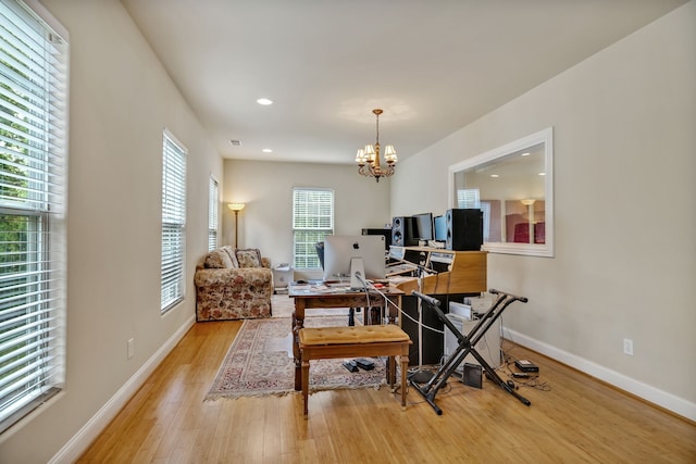
M 91 442 L 102 432 L 102 430 L 113 421 L 123 406 L 133 398 L 138 389 L 154 372 L 157 366 L 176 347 L 176 343 L 184 338 L 184 335 L 196 324 L 196 316 L 190 318 L 176 330 L 157 350 L 150 359 L 140 366 L 138 371 L 116 391 L 116 393 L 104 403 L 103 406 L 71 438 L 63 448 L 49 461 L 50 464 L 69 464 L 77 461 Z

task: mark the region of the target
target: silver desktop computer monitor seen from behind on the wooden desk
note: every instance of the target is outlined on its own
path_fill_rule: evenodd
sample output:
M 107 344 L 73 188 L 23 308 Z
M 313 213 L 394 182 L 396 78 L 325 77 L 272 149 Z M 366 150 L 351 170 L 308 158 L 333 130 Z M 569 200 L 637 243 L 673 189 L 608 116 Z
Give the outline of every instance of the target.
M 382 235 L 330 235 L 324 238 L 324 280 L 348 280 L 353 258 L 362 259 L 364 278 L 385 278 L 385 240 Z

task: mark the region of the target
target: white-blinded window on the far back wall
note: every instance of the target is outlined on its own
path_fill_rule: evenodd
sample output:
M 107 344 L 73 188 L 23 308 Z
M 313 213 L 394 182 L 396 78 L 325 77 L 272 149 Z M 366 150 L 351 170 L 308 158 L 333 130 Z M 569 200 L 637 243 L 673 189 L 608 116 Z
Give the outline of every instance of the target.
M 333 190 L 293 189 L 293 263 L 296 269 L 319 268 L 316 242 L 334 233 Z

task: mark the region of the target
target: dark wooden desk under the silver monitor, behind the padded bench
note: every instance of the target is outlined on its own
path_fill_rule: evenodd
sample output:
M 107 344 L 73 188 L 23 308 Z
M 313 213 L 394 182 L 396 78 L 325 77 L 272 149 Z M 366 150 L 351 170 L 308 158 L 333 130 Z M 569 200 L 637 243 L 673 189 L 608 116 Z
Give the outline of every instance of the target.
M 403 292 L 395 287 L 385 287 L 381 290 L 389 301 L 401 308 Z M 295 358 L 295 390 L 302 389 L 302 360 L 300 359 L 299 331 L 304 327 L 304 310 L 311 309 L 338 309 L 338 308 L 384 308 L 384 298 L 375 292 L 370 292 L 370 302 L 364 291 L 330 289 L 316 290 L 311 286 L 289 286 L 288 296 L 295 299 L 295 312 L 293 312 L 293 356 Z M 387 304 L 387 316 L 394 322 L 396 310 Z M 388 373 L 387 373 L 388 374 Z

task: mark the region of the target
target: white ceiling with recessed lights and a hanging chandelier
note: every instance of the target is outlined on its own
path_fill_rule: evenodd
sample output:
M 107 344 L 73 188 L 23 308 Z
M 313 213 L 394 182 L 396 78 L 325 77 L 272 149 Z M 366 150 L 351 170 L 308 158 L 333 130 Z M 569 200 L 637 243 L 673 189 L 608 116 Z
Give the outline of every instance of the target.
M 222 156 L 352 163 L 375 108 L 403 160 L 685 0 L 122 2 Z

